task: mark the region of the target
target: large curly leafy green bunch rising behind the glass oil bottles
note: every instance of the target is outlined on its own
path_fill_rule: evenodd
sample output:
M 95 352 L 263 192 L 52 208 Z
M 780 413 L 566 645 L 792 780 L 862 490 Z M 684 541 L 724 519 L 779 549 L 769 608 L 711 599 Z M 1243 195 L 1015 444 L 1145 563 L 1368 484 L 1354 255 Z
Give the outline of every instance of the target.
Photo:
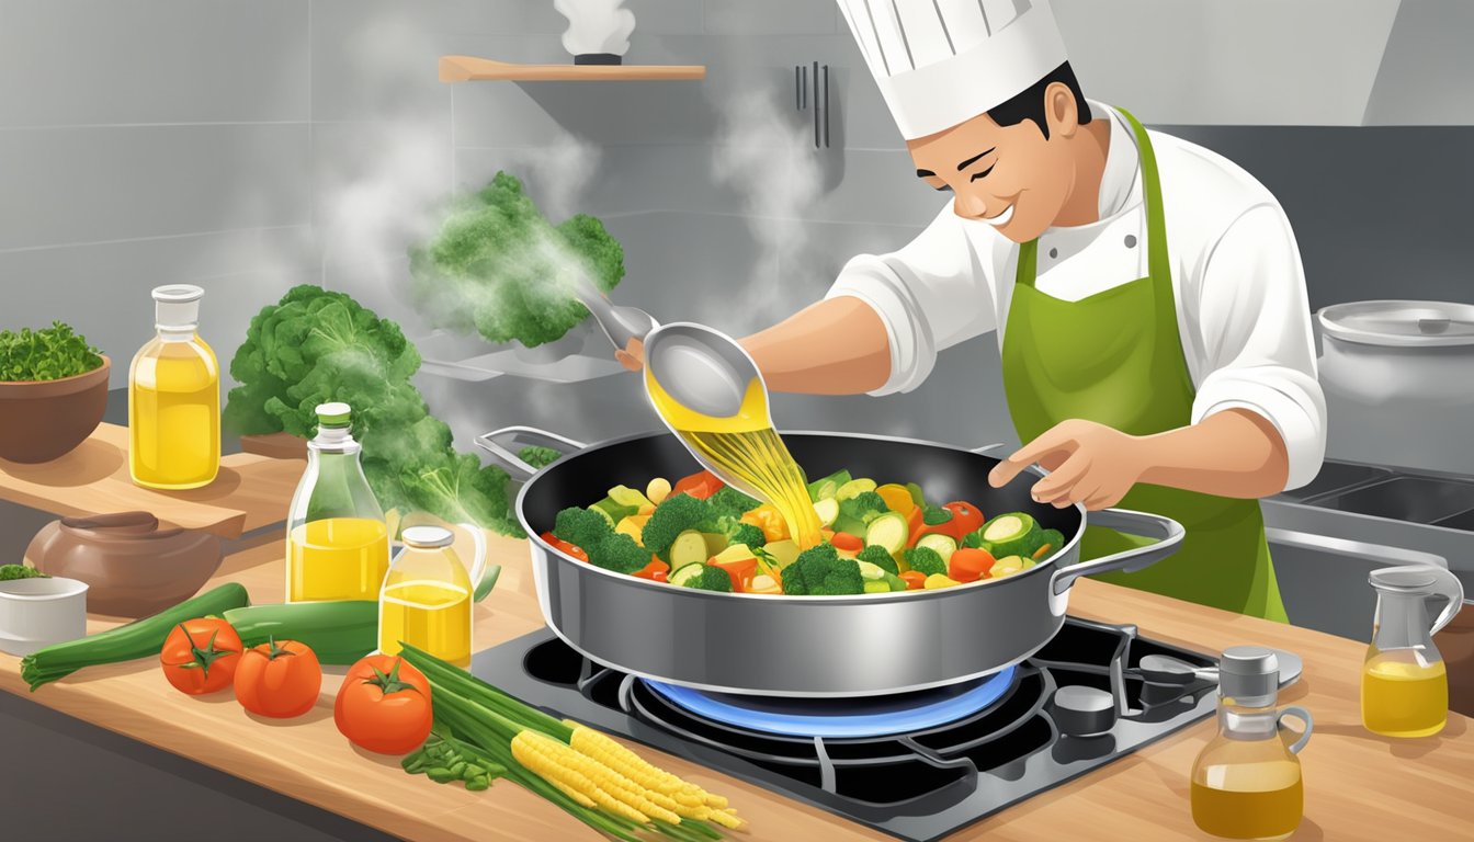
M 420 354 L 399 326 L 342 292 L 296 286 L 251 320 L 230 363 L 240 382 L 221 426 L 234 435 L 311 438 L 318 404 L 354 408 L 363 467 L 385 509 L 423 510 L 519 535 L 504 470 L 451 447 L 410 377 Z

